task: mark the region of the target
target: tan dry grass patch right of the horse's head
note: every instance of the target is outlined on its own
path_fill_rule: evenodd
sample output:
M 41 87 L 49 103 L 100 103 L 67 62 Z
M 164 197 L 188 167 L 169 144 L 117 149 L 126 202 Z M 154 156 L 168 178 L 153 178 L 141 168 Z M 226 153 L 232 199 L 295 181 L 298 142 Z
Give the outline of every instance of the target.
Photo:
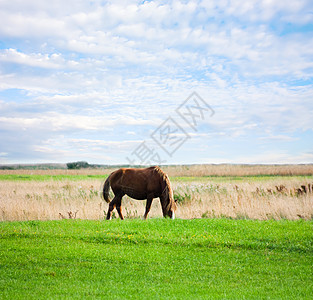
M 313 219 L 309 180 L 288 178 L 267 182 L 192 182 L 173 184 L 181 218 Z

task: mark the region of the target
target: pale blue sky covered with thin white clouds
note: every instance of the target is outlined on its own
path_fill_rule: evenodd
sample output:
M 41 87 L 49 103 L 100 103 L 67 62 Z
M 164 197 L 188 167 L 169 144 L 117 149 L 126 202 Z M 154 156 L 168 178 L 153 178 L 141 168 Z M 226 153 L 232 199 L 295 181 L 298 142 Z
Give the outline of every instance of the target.
M 313 163 L 311 0 L 0 0 L 0 164 Z

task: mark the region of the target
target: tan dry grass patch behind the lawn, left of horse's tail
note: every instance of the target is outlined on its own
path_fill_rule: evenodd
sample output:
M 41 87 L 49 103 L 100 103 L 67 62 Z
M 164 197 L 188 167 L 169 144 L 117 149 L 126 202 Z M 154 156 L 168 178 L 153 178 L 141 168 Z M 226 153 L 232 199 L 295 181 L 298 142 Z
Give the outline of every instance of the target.
M 0 181 L 0 220 L 100 219 L 99 182 Z M 102 210 L 102 213 L 101 213 Z

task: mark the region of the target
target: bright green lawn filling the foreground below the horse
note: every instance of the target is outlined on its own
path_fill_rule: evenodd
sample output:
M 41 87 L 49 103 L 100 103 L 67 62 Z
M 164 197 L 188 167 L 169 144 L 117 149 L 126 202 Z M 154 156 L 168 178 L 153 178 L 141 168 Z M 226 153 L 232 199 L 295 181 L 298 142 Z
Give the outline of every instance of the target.
M 313 222 L 0 223 L 1 299 L 310 299 Z

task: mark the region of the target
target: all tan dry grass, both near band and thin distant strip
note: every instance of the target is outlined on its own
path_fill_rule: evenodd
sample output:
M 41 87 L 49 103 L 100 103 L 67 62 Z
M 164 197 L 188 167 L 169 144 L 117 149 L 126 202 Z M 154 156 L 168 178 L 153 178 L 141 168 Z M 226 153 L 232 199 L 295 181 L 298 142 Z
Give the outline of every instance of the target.
M 174 197 L 178 203 L 176 213 L 178 218 L 226 217 L 259 220 L 313 219 L 312 169 L 312 165 L 265 166 L 263 170 L 258 166 L 240 165 L 163 168 L 171 178 Z M 0 171 L 0 174 L 75 176 L 105 175 L 112 171 L 112 169 L 12 170 Z M 268 176 L 262 177 L 260 174 Z M 204 177 L 210 175 L 214 177 Z M 251 175 L 260 177 L 250 177 Z M 0 180 L 0 221 L 62 218 L 101 220 L 108 209 L 108 204 L 102 200 L 100 193 L 103 181 L 104 179 L 94 178 L 47 181 Z M 125 218 L 139 218 L 144 214 L 145 201 L 124 196 L 122 205 Z M 159 200 L 155 199 L 149 217 L 161 216 Z

